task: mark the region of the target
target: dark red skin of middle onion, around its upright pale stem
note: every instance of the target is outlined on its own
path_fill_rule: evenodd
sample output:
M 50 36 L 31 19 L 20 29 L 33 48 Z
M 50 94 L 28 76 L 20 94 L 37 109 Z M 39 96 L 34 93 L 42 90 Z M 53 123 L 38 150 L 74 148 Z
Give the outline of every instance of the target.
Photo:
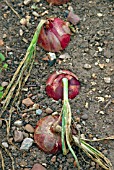
M 68 70 L 55 71 L 46 81 L 47 95 L 54 100 L 63 99 L 63 78 L 68 79 L 68 98 L 73 99 L 79 94 L 80 82 L 74 73 Z

